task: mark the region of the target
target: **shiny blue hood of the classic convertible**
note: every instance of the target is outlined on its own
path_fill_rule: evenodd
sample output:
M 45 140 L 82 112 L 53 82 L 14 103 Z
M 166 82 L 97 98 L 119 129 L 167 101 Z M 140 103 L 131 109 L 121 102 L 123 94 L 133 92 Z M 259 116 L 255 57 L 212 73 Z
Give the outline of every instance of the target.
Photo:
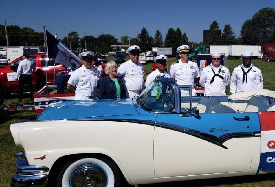
M 132 98 L 66 101 L 45 109 L 36 120 L 89 119 L 102 116 L 138 114 Z

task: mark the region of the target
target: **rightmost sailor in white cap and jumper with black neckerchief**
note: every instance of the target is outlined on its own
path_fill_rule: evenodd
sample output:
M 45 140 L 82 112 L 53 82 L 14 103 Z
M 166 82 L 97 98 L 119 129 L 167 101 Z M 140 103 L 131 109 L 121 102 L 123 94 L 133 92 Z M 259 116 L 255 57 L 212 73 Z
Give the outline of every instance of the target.
M 251 63 L 252 53 L 242 53 L 243 64 L 235 67 L 231 75 L 230 92 L 242 92 L 263 89 L 263 75 L 259 68 Z

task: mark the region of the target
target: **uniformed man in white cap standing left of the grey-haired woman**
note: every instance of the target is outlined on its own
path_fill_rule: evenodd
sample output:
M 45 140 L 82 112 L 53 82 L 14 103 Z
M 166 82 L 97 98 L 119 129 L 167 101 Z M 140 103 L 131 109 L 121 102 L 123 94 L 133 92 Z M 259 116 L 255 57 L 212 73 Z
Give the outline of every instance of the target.
M 78 55 L 83 64 L 76 69 L 68 80 L 67 89 L 76 93 L 74 100 L 96 98 L 96 89 L 101 79 L 100 72 L 92 66 L 94 53 L 86 51 Z

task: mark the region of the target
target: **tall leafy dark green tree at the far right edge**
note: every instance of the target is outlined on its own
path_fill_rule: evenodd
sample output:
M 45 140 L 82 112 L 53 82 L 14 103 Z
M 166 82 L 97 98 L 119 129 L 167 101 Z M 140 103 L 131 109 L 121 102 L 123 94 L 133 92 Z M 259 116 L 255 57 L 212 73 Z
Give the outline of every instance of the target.
M 265 7 L 256 12 L 251 19 L 253 29 L 258 34 L 256 45 L 269 42 L 275 28 L 275 10 Z

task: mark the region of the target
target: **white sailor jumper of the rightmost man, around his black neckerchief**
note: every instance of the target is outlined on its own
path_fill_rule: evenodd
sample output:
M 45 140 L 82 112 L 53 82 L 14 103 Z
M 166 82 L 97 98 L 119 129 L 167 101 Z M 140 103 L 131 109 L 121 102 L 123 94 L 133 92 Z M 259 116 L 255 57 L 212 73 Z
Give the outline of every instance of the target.
M 247 75 L 244 76 L 244 82 L 243 82 L 243 71 L 248 71 L 248 69 L 252 69 L 247 73 Z M 233 73 L 231 75 L 231 83 L 230 83 L 230 92 L 236 93 L 236 92 L 242 92 L 242 91 L 250 91 L 250 90 L 259 90 L 263 89 L 263 75 L 259 68 L 253 66 L 253 64 L 250 65 L 249 68 L 245 68 L 242 65 L 239 65 L 238 67 L 235 67 L 233 70 Z M 247 78 L 247 83 L 246 83 Z

